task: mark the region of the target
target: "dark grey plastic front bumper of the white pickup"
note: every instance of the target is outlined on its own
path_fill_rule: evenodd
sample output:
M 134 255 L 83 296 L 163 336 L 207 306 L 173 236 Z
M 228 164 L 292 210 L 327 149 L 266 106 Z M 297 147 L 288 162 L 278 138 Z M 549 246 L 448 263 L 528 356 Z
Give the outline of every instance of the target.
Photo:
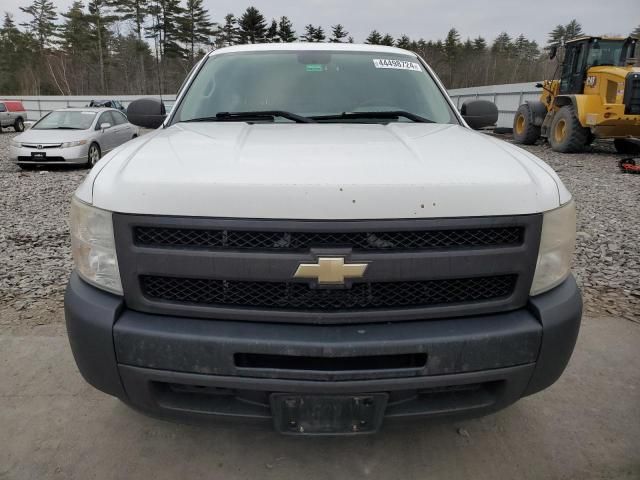
M 147 413 L 198 421 L 270 420 L 273 393 L 384 392 L 386 418 L 490 413 L 559 378 L 581 313 L 573 278 L 520 310 L 388 324 L 151 315 L 128 310 L 75 273 L 65 297 L 71 348 L 87 382 Z M 410 355 L 426 362 L 361 368 L 376 357 Z M 349 365 L 357 368 L 325 368 L 327 359 L 337 359 L 335 367 L 354 358 Z

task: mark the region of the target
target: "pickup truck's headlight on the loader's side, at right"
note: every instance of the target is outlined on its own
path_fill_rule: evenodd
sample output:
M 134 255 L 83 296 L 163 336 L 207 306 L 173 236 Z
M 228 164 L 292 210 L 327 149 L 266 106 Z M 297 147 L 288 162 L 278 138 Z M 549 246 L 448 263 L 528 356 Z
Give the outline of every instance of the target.
M 572 200 L 544 214 L 532 296 L 551 290 L 569 276 L 575 246 L 576 205 Z

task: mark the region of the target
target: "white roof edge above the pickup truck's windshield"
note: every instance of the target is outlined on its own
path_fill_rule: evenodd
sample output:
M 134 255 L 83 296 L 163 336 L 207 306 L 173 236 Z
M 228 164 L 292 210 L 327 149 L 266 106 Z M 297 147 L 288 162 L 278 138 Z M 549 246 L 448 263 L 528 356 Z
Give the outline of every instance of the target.
M 239 52 L 266 52 L 266 51 L 291 51 L 291 50 L 309 50 L 323 52 L 379 52 L 394 53 L 400 55 L 410 55 L 415 57 L 416 54 L 408 50 L 396 47 L 387 47 L 384 45 L 367 45 L 363 43 L 256 43 L 250 45 L 234 45 L 232 47 L 224 47 L 209 53 L 209 56 L 221 55 L 223 53 L 239 53 Z

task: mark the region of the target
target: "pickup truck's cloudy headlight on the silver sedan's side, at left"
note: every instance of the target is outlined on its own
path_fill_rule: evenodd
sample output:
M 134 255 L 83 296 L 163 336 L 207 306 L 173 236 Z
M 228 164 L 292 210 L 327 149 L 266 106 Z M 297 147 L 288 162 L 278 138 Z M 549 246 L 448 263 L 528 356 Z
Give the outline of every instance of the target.
M 111 212 L 71 201 L 71 248 L 76 271 L 98 288 L 122 295 Z

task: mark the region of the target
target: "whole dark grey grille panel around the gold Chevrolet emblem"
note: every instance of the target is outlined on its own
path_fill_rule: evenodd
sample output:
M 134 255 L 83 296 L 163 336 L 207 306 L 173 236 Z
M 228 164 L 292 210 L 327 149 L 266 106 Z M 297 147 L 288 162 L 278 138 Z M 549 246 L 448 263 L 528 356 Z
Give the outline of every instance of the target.
M 542 215 L 278 220 L 113 215 L 127 308 L 299 324 L 401 322 L 522 308 Z M 344 288 L 294 278 L 302 263 L 367 263 Z

